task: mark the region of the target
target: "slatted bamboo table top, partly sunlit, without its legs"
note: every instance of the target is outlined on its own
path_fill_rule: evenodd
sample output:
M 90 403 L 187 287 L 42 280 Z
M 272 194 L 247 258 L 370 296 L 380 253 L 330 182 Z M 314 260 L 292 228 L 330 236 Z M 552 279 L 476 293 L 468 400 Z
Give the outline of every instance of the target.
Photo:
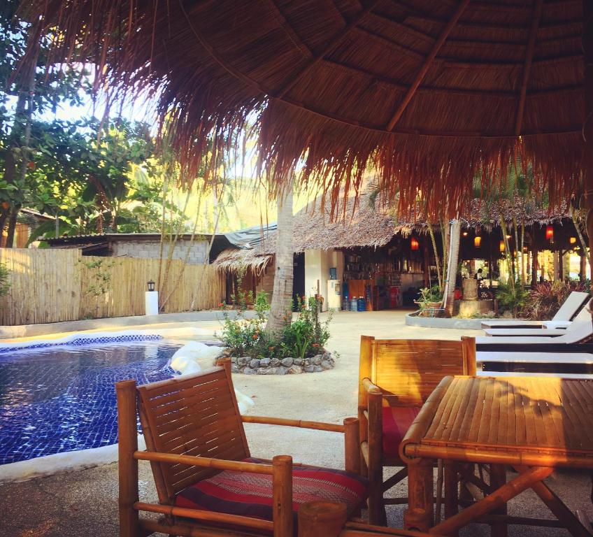
M 593 468 L 593 380 L 448 377 L 401 446 L 435 457 Z

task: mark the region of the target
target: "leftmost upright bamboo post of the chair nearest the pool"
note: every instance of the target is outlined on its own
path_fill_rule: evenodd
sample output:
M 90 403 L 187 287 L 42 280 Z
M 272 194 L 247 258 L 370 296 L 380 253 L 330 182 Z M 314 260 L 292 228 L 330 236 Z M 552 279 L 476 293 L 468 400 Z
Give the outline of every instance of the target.
M 124 380 L 115 385 L 117 392 L 117 430 L 120 474 L 120 537 L 138 536 L 138 431 L 136 429 L 136 381 Z

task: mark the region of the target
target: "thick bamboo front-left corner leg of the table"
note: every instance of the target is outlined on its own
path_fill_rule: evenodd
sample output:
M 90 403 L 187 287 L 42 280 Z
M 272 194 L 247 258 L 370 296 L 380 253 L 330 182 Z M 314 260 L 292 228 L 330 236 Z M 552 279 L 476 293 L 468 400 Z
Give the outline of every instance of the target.
M 403 527 L 428 531 L 433 521 L 433 461 L 416 459 L 408 464 L 408 509 Z

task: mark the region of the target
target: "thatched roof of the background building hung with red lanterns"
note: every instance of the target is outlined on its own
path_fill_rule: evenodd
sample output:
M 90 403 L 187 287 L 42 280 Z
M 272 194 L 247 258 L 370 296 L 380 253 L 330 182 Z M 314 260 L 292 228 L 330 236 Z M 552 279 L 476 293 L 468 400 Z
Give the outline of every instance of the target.
M 294 216 L 294 252 L 304 250 L 331 250 L 332 248 L 379 248 L 401 234 L 428 233 L 428 222 L 424 215 L 398 215 L 390 209 L 381 196 L 372 199 L 366 192 L 355 199 L 350 196 L 345 203 L 345 216 L 333 220 L 329 208 L 320 207 L 320 199 L 310 203 Z M 566 203 L 551 212 L 541 203 L 526 201 L 519 197 L 514 200 L 502 199 L 487 203 L 482 199 L 473 199 L 471 210 L 462 215 L 462 226 L 466 229 L 484 229 L 492 231 L 499 227 L 501 216 L 508 229 L 513 227 L 513 218 L 526 226 L 531 224 L 550 224 L 570 219 Z M 435 233 L 440 232 L 439 222 L 431 222 Z M 254 236 L 250 228 L 249 236 Z M 243 248 L 228 248 L 215 259 L 214 263 L 221 270 L 236 270 L 247 266 L 261 273 L 271 262 L 276 252 L 276 224 L 259 229 L 257 236 Z

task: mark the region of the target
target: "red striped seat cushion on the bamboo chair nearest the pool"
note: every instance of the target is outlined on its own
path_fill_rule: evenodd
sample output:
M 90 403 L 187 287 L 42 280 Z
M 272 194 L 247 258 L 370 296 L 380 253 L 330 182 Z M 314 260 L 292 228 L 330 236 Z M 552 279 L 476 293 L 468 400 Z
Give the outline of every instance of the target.
M 245 462 L 262 463 L 259 459 Z M 368 481 L 355 473 L 329 468 L 292 468 L 292 510 L 308 501 L 343 502 L 348 513 L 361 507 L 367 496 Z M 272 520 L 272 476 L 261 473 L 222 471 L 197 482 L 176 497 L 178 507 L 205 509 Z

